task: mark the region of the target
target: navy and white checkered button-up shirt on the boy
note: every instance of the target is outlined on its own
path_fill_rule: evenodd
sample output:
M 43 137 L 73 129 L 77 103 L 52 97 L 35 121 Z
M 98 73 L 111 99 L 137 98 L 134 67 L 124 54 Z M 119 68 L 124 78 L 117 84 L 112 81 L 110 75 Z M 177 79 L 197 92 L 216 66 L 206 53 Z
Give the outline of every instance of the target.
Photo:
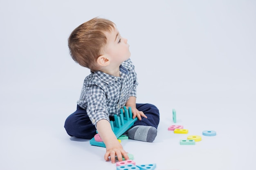
M 77 104 L 86 110 L 92 124 L 109 116 L 120 114 L 130 96 L 136 97 L 137 74 L 131 60 L 120 67 L 120 77 L 96 71 L 85 77 L 81 96 Z

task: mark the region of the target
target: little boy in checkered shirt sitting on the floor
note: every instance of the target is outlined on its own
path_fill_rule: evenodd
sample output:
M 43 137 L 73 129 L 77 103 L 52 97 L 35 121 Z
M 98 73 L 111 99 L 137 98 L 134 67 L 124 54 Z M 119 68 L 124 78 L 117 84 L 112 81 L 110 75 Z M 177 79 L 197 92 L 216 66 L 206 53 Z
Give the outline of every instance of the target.
M 70 55 L 91 70 L 83 83 L 77 110 L 67 117 L 65 129 L 74 137 L 92 139 L 96 129 L 106 145 L 105 160 L 115 163 L 128 155 L 110 126 L 114 114 L 124 106 L 132 108 L 128 137 L 153 142 L 157 135 L 159 111 L 152 104 L 136 104 L 137 75 L 130 60 L 129 44 L 110 20 L 93 18 L 78 26 L 68 39 Z

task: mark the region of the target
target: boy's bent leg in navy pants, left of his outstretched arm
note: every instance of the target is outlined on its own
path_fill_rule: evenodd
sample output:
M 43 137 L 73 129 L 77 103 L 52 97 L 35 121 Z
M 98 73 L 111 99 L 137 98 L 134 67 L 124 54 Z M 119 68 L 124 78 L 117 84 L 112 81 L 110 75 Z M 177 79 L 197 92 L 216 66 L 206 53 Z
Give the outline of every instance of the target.
M 96 135 L 96 128 L 88 117 L 86 110 L 78 105 L 76 111 L 67 117 L 64 127 L 70 136 L 92 139 Z

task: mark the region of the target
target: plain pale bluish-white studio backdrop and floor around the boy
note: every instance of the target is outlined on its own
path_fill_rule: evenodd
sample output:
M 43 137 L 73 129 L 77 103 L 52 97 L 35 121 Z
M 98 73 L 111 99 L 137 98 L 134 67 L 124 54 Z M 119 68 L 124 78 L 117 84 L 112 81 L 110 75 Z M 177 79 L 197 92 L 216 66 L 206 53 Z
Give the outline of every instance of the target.
M 63 127 L 90 73 L 67 38 L 94 17 L 128 38 L 137 102 L 160 111 L 153 143 L 126 140 L 156 170 L 253 169 L 256 140 L 256 2 L 253 0 L 10 0 L 0 2 L 0 169 L 115 170 L 105 148 Z M 189 134 L 168 131 L 174 124 Z M 215 137 L 202 136 L 215 130 Z M 195 146 L 180 139 L 201 135 Z

